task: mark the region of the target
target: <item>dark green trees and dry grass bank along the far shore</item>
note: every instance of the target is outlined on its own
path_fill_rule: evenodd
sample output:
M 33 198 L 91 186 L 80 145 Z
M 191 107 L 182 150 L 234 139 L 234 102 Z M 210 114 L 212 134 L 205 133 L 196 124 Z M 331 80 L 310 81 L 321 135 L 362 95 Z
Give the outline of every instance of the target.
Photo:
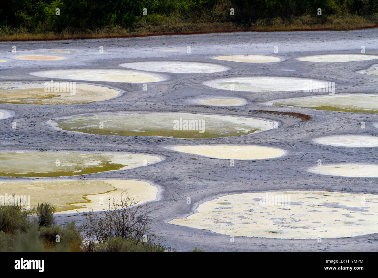
M 270 30 L 272 26 L 350 29 L 377 23 L 378 0 L 9 0 L 0 6 L 2 37 Z

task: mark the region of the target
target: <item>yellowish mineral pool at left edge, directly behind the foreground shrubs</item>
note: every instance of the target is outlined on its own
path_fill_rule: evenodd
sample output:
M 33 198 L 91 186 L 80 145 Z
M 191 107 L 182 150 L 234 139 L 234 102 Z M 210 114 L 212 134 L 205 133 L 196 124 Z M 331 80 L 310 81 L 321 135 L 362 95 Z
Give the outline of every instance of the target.
M 121 194 L 122 197 L 127 194 L 139 204 L 150 202 L 157 199 L 158 188 L 141 180 L 0 181 L 0 195 L 6 194 L 29 196 L 31 208 L 48 202 L 55 206 L 57 213 L 76 213 L 107 210 L 109 204 L 112 206 L 121 199 Z

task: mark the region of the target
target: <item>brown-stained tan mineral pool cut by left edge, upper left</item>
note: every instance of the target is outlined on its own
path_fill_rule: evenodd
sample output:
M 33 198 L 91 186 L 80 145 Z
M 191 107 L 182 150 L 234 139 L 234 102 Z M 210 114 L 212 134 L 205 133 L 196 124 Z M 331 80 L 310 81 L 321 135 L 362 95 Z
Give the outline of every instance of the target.
M 47 90 L 46 90 L 47 89 Z M 54 90 L 56 92 L 54 92 Z M 115 98 L 121 93 L 105 86 L 68 82 L 0 82 L 0 103 L 76 104 Z

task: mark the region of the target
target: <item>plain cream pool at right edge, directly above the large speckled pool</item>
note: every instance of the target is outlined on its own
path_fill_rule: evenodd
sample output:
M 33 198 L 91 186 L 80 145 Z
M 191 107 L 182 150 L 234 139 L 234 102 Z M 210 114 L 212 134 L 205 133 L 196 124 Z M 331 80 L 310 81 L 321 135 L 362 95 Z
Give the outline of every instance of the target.
M 320 175 L 335 175 L 339 177 L 378 177 L 378 165 L 371 164 L 330 164 L 324 166 L 311 167 L 308 168 L 308 171 Z

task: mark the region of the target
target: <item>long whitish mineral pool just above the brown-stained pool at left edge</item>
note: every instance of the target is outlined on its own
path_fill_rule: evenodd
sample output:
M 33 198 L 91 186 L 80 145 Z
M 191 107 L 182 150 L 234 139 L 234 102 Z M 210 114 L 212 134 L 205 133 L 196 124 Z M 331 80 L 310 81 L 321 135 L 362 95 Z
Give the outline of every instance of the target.
M 30 73 L 34 76 L 71 80 L 149 83 L 166 80 L 165 77 L 135 70 L 46 70 Z

